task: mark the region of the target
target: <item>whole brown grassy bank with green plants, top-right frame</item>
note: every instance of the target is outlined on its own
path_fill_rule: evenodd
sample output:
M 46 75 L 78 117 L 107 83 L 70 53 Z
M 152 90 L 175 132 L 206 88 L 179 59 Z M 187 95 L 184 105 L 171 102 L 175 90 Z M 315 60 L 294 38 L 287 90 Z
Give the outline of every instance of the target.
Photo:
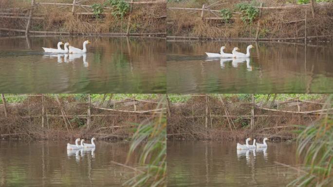
M 320 0 L 323 1 L 323 0 Z M 167 4 L 168 36 L 203 38 L 295 38 L 305 36 L 314 40 L 332 40 L 333 3 L 318 2 L 311 5 L 286 0 L 170 0 Z M 280 8 L 259 8 L 280 7 Z M 303 3 L 307 3 L 304 1 Z M 209 11 L 172 8 L 202 9 L 203 4 Z M 295 8 L 284 8 L 295 6 Z M 207 8 L 205 8 L 207 9 Z M 306 24 L 305 24 L 306 19 Z

